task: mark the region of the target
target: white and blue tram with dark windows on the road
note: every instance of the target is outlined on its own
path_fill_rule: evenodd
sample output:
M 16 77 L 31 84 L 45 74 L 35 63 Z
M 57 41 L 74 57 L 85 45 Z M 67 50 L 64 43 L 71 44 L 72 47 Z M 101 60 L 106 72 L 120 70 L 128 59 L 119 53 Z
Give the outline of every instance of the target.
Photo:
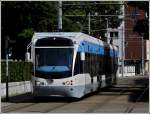
M 37 32 L 31 61 L 35 97 L 81 98 L 116 83 L 118 49 L 81 32 Z

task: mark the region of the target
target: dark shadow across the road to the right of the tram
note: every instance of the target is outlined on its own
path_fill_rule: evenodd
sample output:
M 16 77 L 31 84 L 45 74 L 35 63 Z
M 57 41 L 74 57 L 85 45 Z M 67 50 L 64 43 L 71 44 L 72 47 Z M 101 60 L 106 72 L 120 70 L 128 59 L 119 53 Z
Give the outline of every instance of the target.
M 125 80 L 129 80 L 129 78 Z M 128 95 L 129 102 L 149 102 L 149 77 L 131 78 L 130 82 L 124 81 L 112 87 L 101 89 L 98 95 Z

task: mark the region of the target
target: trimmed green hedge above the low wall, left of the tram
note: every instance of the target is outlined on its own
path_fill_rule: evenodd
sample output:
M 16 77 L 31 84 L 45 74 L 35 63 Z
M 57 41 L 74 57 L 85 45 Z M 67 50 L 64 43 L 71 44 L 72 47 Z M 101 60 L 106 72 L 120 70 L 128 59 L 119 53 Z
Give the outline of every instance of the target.
M 24 61 L 8 62 L 9 82 L 31 80 L 32 63 Z M 1 82 L 6 82 L 6 61 L 1 61 Z

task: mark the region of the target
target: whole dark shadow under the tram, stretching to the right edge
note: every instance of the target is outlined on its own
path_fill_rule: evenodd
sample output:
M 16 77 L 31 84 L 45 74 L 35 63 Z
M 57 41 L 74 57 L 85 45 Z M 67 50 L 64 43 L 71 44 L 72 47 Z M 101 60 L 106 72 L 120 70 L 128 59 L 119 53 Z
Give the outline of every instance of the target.
M 25 93 L 9 98 L 9 102 L 12 103 L 38 103 L 38 102 L 76 102 L 89 98 L 93 95 L 128 95 L 130 102 L 149 102 L 149 78 L 141 77 L 133 80 L 134 84 L 115 85 L 111 87 L 102 88 L 100 91 L 85 95 L 81 99 L 70 97 L 37 97 L 34 98 L 31 93 Z M 5 99 L 1 100 L 6 102 Z

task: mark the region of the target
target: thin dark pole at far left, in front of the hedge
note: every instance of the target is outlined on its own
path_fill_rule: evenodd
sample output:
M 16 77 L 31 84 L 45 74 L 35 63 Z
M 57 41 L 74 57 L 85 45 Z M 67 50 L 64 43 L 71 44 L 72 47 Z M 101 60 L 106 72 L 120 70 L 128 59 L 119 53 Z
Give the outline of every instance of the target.
M 6 102 L 9 100 L 9 91 L 8 91 L 8 42 L 9 37 L 6 36 L 5 40 L 5 54 L 6 54 Z

